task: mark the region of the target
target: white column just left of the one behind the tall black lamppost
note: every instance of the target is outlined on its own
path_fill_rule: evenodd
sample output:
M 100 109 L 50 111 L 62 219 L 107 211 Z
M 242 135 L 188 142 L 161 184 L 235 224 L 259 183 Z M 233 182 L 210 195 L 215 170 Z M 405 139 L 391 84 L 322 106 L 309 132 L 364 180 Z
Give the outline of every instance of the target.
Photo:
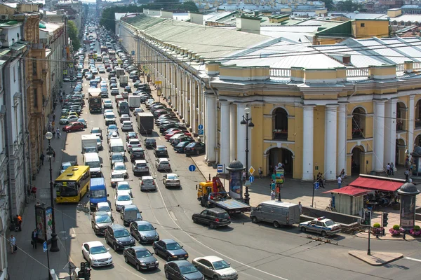
M 230 121 L 229 121 L 229 102 L 221 101 L 220 116 L 220 164 L 228 167 L 229 165 L 229 137 Z

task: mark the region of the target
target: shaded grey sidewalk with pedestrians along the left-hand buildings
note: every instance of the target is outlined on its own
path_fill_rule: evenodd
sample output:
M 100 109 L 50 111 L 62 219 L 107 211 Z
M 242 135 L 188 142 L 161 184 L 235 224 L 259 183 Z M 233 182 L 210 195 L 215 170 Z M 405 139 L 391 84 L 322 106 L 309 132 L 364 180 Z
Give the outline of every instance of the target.
M 70 92 L 70 83 L 63 84 L 65 92 Z M 58 123 L 60 118 L 61 106 L 58 104 L 55 108 L 55 122 Z M 58 127 L 58 125 L 55 125 Z M 51 146 L 53 147 L 56 156 L 55 162 L 51 159 L 53 168 L 53 180 L 58 174 L 60 169 L 60 162 L 62 158 L 62 150 L 65 146 L 66 134 L 62 133 L 60 139 L 57 136 L 51 139 Z M 46 154 L 46 148 L 48 147 L 48 141 L 44 141 L 44 155 Z M 32 181 L 32 184 L 37 188 L 36 198 L 40 203 L 45 203 L 47 206 L 50 205 L 50 172 L 48 158 L 44 160 L 44 165 L 41 166 L 39 174 L 36 175 L 36 180 Z M 48 266 L 47 266 L 47 253 L 44 253 L 42 244 L 37 244 L 36 249 L 32 248 L 31 245 L 31 233 L 35 228 L 35 214 L 34 206 L 36 202 L 29 200 L 29 203 L 24 209 L 22 214 L 22 231 L 21 232 L 8 232 L 7 237 L 15 235 L 16 244 L 18 251 L 13 255 L 8 253 L 8 272 L 11 279 L 48 279 Z M 55 223 L 56 232 L 58 234 L 58 246 L 59 252 L 48 252 L 50 258 L 50 268 L 55 269 L 55 272 L 62 272 L 69 261 L 67 252 L 69 252 L 69 246 L 66 246 L 66 242 L 62 239 L 64 233 L 60 233 L 62 228 L 62 215 L 60 211 L 55 211 Z M 67 269 L 68 271 L 68 269 Z

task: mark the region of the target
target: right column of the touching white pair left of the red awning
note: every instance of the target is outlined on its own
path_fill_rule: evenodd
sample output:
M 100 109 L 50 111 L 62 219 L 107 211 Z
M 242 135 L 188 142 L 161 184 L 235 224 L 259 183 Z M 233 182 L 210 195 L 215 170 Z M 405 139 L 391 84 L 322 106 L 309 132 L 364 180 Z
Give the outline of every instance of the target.
M 336 173 L 345 169 L 347 173 L 347 105 L 340 104 L 338 107 L 338 160 Z

